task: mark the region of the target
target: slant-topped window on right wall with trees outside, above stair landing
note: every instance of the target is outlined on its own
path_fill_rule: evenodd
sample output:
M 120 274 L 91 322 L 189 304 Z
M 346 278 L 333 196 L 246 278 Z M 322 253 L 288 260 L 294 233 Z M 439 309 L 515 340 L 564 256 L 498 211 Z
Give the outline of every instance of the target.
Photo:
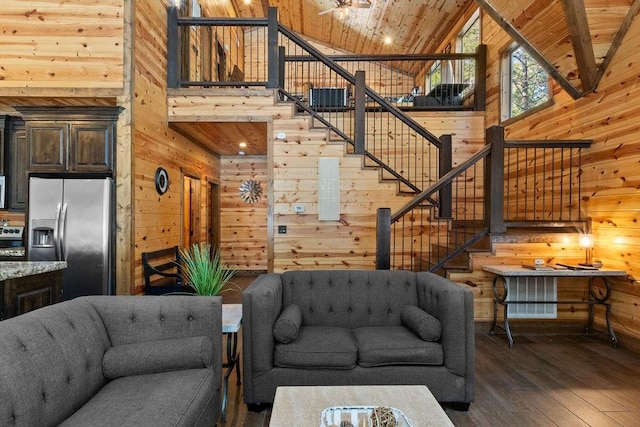
M 521 46 L 503 57 L 502 120 L 519 116 L 551 99 L 546 71 Z

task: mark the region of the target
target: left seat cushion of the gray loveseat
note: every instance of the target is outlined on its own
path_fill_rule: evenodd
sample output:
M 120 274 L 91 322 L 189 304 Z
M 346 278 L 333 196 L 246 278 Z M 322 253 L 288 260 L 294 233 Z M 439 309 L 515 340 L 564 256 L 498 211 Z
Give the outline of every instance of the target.
M 295 341 L 276 344 L 273 364 L 282 368 L 351 369 L 357 359 L 358 348 L 350 329 L 302 326 Z

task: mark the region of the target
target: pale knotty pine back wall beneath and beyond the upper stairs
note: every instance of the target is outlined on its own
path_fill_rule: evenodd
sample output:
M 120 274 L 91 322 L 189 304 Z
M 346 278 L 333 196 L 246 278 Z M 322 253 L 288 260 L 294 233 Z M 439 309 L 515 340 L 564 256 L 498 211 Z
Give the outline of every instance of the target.
M 484 118 L 476 113 L 422 112 L 416 119 L 435 132 L 454 134 L 454 145 L 477 151 L 483 145 Z M 376 210 L 398 210 L 410 197 L 398 194 L 396 183 L 380 182 L 374 168 L 363 168 L 360 156 L 345 155 L 342 143 L 328 140 L 326 132 L 306 130 L 301 119 L 275 120 L 273 142 L 274 228 L 287 226 L 287 234 L 274 235 L 274 271 L 304 268 L 375 268 Z M 436 133 L 438 134 L 438 133 Z M 459 151 L 464 151 L 461 148 Z M 460 157 L 456 157 L 456 162 Z M 317 217 L 318 159 L 340 159 L 340 220 Z M 302 205 L 304 213 L 295 213 Z

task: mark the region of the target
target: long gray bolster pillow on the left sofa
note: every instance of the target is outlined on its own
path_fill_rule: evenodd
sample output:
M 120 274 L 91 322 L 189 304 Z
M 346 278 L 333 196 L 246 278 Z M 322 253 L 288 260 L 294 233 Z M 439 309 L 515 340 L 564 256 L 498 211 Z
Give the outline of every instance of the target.
M 111 347 L 102 359 L 108 379 L 155 372 L 211 366 L 213 344 L 209 337 L 187 337 Z

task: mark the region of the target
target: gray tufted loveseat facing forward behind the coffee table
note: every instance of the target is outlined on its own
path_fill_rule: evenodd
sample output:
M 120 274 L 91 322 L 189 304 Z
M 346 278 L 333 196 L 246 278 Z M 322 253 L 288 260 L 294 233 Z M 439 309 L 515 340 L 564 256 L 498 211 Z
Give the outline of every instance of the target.
M 439 402 L 474 400 L 473 293 L 431 273 L 289 271 L 242 294 L 244 401 L 280 385 L 426 385 Z

